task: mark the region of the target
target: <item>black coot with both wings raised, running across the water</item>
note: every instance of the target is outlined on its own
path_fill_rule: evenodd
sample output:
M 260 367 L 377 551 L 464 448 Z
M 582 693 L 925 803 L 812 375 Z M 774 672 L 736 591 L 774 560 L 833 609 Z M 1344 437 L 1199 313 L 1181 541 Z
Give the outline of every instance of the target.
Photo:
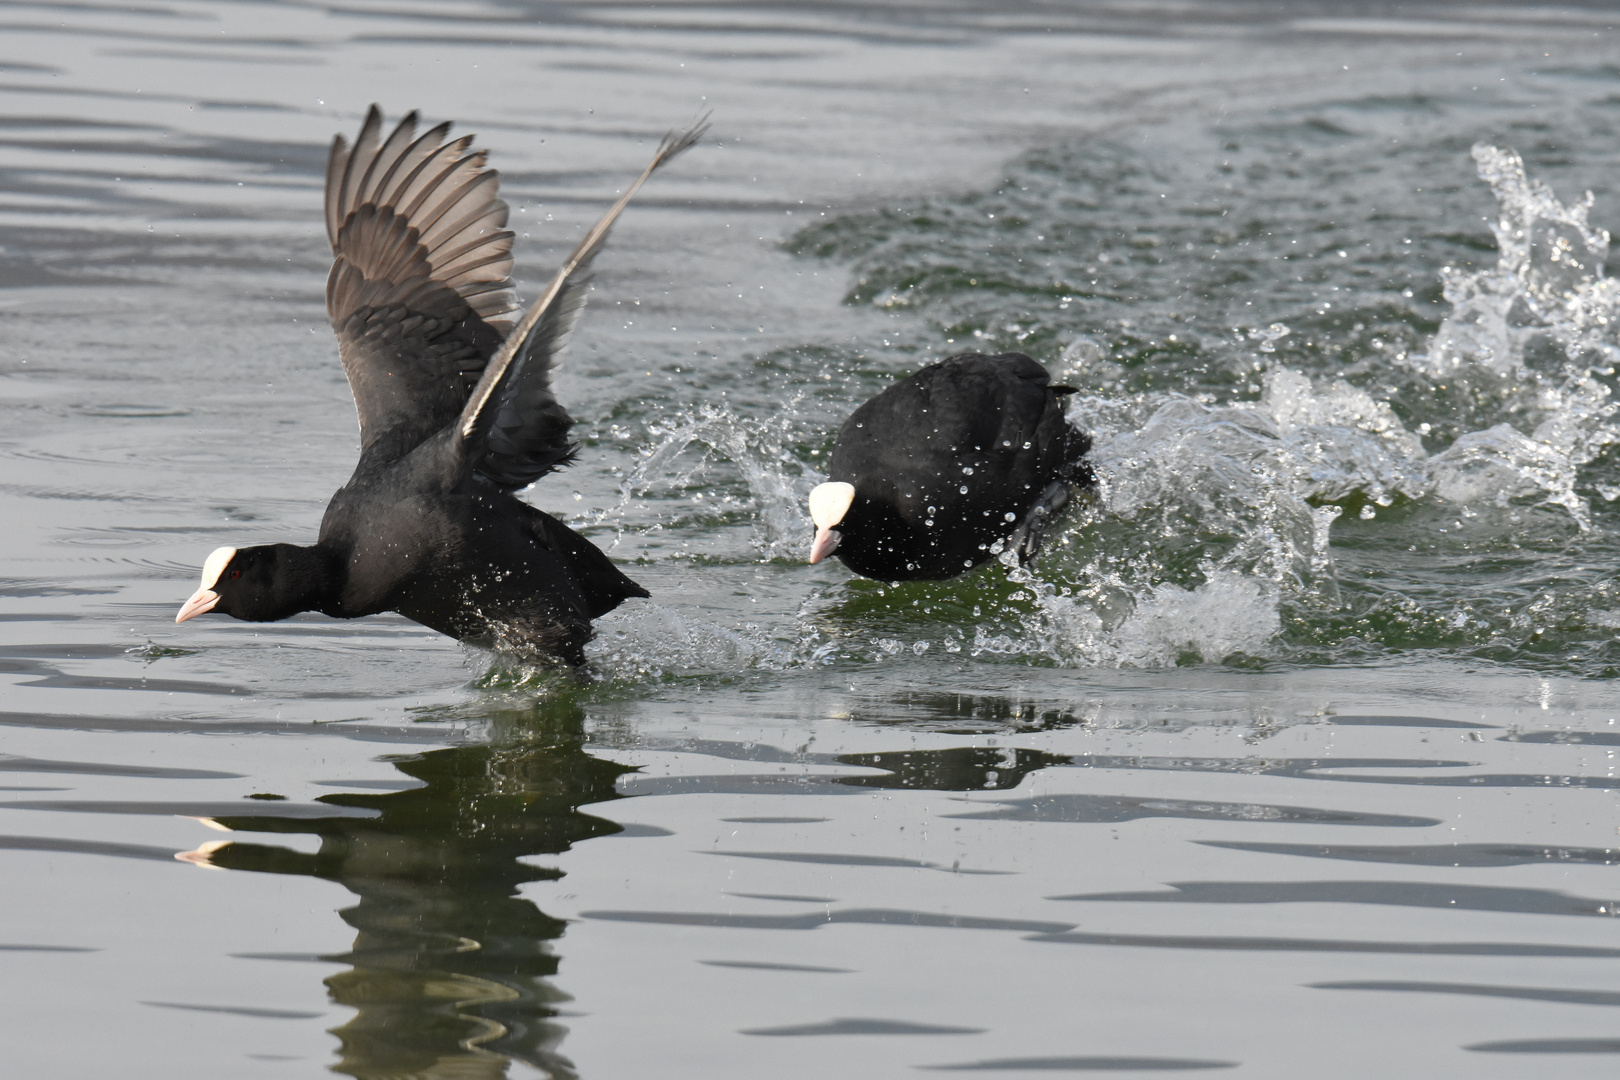
M 326 172 L 326 308 L 360 413 L 360 463 L 313 547 L 220 547 L 175 622 L 394 610 L 441 633 L 578 667 L 591 619 L 646 589 L 514 492 L 573 460 L 551 372 L 608 230 L 701 121 L 671 133 L 515 324 L 499 173 L 471 136 L 416 113 L 382 138 L 373 105 Z

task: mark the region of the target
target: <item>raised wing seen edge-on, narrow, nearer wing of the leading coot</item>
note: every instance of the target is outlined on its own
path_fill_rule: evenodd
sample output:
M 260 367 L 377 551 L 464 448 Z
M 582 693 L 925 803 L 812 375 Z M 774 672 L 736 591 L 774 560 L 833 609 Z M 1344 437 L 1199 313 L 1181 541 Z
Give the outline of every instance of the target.
M 484 366 L 458 434 L 462 460 L 491 483 L 518 489 L 573 458 L 573 421 L 551 392 L 551 372 L 585 308 L 590 266 L 608 233 L 646 178 L 708 131 L 700 117 L 685 131 L 671 131 L 642 175 L 625 189 L 551 279 L 551 285 L 512 329 Z

